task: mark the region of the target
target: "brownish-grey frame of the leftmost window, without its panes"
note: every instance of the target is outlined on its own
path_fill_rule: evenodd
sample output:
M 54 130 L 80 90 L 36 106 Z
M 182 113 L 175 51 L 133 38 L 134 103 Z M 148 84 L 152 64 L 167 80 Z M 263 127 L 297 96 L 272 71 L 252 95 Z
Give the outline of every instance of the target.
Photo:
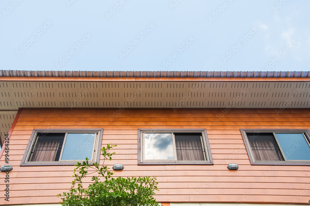
M 101 144 L 102 144 L 102 136 L 103 136 L 103 129 L 33 129 L 31 137 L 29 139 L 28 145 L 26 147 L 23 159 L 20 163 L 20 166 L 49 166 L 49 165 L 76 165 L 77 161 L 82 162 L 83 160 L 59 160 L 59 161 L 36 161 L 31 162 L 28 161 L 29 156 L 31 154 L 32 148 L 35 145 L 37 141 L 37 134 L 38 133 L 47 133 L 47 132 L 53 132 L 53 133 L 66 133 L 65 137 L 67 137 L 68 133 L 97 133 L 92 153 L 92 159 L 89 161 L 90 164 L 99 162 L 100 159 L 100 151 L 101 151 Z M 64 143 L 65 143 L 64 138 Z M 61 149 L 60 159 L 61 155 L 64 150 L 64 143 Z M 85 160 L 85 159 L 84 159 Z

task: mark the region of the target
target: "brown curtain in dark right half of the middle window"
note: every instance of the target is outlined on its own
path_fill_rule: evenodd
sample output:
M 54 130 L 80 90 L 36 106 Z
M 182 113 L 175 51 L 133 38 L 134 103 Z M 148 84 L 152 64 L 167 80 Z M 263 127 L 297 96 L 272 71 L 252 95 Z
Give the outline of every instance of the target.
M 200 136 L 175 135 L 175 146 L 178 160 L 205 160 Z

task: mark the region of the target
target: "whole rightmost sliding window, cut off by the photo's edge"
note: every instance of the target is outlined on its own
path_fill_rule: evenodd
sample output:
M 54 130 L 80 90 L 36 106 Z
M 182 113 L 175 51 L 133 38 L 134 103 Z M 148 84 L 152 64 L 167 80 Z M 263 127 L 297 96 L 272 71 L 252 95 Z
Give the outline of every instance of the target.
M 309 130 L 243 130 L 251 164 L 310 165 Z

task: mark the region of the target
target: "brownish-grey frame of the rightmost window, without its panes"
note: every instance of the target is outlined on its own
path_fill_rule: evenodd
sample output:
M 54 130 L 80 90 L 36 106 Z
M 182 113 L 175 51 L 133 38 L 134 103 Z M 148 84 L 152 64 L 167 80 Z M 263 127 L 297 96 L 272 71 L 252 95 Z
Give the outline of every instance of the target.
M 281 149 L 281 145 L 279 144 L 277 137 L 275 137 L 275 141 L 280 148 L 281 154 L 284 161 L 255 161 L 254 156 L 252 154 L 252 150 L 250 148 L 250 143 L 248 137 L 246 136 L 246 132 L 251 133 L 303 133 L 305 136 L 306 141 L 310 145 L 310 132 L 309 129 L 240 129 L 242 139 L 246 146 L 246 151 L 248 153 L 251 165 L 301 165 L 301 166 L 308 166 L 310 165 L 310 160 L 286 160 L 286 157 Z

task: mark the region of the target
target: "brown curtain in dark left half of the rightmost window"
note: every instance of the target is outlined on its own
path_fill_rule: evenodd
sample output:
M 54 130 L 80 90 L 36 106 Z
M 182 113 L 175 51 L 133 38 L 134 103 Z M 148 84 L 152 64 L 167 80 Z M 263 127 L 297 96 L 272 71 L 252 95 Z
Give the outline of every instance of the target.
M 247 134 L 256 161 L 283 161 L 284 158 L 272 133 Z

